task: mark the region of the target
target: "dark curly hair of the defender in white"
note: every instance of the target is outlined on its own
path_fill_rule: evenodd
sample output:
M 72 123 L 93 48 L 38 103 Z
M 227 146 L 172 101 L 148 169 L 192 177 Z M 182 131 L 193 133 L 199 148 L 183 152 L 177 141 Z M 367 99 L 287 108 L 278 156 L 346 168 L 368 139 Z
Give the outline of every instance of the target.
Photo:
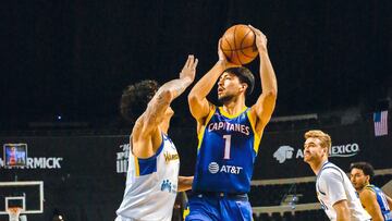
M 131 123 L 135 123 L 137 118 L 146 110 L 148 102 L 152 99 L 158 88 L 158 82 L 151 79 L 145 79 L 127 86 L 121 96 L 121 115 Z

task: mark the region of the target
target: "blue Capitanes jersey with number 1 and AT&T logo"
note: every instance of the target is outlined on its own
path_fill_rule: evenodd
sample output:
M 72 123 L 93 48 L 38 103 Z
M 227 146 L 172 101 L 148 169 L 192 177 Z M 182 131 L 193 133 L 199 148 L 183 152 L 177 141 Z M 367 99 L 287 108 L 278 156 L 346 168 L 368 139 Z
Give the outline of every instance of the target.
M 198 134 L 193 192 L 249 192 L 261 138 L 249 110 L 245 107 L 236 115 L 211 110 Z

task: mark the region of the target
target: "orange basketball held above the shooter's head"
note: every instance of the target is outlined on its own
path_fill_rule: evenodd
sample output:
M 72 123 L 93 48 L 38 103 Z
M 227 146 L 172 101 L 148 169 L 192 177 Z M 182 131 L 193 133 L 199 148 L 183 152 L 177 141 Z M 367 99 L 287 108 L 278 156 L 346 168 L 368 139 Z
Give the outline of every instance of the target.
M 247 64 L 258 54 L 256 35 L 247 25 L 234 25 L 223 34 L 221 49 L 231 63 Z

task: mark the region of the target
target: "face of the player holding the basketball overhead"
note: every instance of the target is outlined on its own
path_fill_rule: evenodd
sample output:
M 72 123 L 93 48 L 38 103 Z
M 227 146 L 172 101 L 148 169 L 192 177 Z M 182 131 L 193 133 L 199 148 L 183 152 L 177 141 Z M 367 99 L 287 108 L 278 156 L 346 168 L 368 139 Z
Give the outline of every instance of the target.
M 231 100 L 244 90 L 244 86 L 235 74 L 224 72 L 218 81 L 218 99 L 221 102 Z

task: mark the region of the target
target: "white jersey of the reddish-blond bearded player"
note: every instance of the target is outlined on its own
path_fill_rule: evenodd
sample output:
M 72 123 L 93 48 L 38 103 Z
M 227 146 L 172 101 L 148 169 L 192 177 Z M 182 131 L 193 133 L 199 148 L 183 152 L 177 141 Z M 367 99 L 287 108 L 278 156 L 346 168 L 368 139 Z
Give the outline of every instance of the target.
M 348 176 L 331 162 L 327 161 L 317 174 L 316 192 L 317 198 L 330 220 L 336 220 L 336 211 L 333 209 L 333 205 L 342 199 L 347 200 L 352 221 L 371 219 L 362 207 Z

